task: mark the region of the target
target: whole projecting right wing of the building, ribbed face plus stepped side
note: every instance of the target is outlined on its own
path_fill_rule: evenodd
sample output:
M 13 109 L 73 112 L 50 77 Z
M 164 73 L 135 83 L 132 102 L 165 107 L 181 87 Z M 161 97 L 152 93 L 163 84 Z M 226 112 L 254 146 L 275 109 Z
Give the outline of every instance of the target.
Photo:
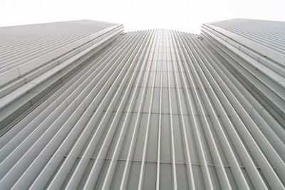
M 223 61 L 229 63 L 224 66 L 244 85 L 246 91 L 255 97 L 253 101 L 258 101 L 254 103 L 258 114 L 253 113 L 253 115 L 264 117 L 283 143 L 285 137 L 285 54 L 282 52 L 285 48 L 282 38 L 285 36 L 284 26 L 284 22 L 234 19 L 202 27 L 205 41 Z M 252 33 L 252 30 L 256 32 Z M 278 49 L 270 46 L 271 43 L 276 43 Z

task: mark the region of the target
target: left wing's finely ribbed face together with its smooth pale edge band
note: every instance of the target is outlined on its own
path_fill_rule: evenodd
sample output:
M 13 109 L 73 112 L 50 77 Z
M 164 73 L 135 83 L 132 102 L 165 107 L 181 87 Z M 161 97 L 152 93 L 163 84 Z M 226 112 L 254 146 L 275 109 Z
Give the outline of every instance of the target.
M 66 21 L 0 28 L 0 85 L 54 60 L 118 24 Z

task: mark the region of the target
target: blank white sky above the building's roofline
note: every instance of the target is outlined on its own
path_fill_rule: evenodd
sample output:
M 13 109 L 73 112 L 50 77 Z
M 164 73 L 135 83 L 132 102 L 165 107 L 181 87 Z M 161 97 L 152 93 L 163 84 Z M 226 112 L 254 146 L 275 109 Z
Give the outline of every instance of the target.
M 0 1 L 0 26 L 93 19 L 123 23 L 125 31 L 199 33 L 202 23 L 233 18 L 285 21 L 285 0 Z

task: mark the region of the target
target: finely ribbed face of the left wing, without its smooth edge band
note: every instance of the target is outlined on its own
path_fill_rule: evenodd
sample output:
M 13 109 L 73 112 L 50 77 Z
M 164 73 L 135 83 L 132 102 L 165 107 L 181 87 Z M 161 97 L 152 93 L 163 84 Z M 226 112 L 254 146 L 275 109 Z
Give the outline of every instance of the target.
M 69 43 L 115 25 L 99 21 L 67 21 L 1 27 L 0 72 L 4 73 L 29 60 L 45 56 Z

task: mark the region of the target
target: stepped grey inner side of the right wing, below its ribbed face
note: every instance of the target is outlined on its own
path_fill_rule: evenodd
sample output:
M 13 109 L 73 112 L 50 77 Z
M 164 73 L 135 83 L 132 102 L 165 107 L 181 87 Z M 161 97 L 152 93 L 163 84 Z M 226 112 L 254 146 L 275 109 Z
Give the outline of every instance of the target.
M 280 33 L 282 34 L 282 31 Z M 265 127 L 263 124 L 264 127 L 261 130 L 268 131 L 268 128 L 271 128 L 274 135 L 278 136 L 277 139 L 281 139 L 282 142 L 271 143 L 284 159 L 283 147 L 279 147 L 279 144 L 284 144 L 285 137 L 284 66 L 281 66 L 283 63 L 269 60 L 256 52 L 255 49 L 247 46 L 242 48 L 236 41 L 222 36 L 223 33 L 218 34 L 211 28 L 204 28 L 202 34 L 209 44 L 207 46 L 210 46 L 217 57 L 224 62 L 227 72 L 232 73 L 235 80 L 239 80 L 238 84 L 244 86 L 244 95 L 254 107 L 252 117 L 254 116 L 256 122 L 259 122 L 261 116 L 270 126 Z M 269 138 L 269 141 L 273 141 L 275 138 L 271 134 L 272 132 L 264 131 L 264 135 Z

